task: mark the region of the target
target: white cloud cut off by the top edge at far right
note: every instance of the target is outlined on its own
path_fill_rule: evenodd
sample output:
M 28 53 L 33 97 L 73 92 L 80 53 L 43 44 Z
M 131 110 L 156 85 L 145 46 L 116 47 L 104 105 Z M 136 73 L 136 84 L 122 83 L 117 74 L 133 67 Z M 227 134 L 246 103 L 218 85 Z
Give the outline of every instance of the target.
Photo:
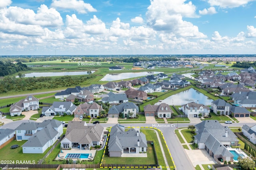
M 254 0 L 208 0 L 208 3 L 211 6 L 220 6 L 221 8 L 234 8 L 244 6 L 251 1 Z

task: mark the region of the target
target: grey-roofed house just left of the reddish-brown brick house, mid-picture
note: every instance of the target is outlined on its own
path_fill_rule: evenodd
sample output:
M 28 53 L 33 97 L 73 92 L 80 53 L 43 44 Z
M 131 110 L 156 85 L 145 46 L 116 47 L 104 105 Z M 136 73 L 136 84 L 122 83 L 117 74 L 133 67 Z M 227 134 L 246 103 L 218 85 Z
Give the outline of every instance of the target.
M 126 103 L 128 98 L 125 93 L 114 94 L 113 92 L 108 93 L 108 97 L 102 98 L 102 103 Z

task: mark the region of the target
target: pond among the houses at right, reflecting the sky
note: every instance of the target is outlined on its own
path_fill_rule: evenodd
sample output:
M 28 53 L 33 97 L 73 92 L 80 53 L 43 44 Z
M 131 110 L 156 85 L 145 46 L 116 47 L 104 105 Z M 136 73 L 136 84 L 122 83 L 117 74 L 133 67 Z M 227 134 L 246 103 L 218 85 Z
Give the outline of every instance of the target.
M 195 89 L 191 88 L 170 97 L 167 97 L 162 102 L 168 105 L 185 105 L 187 103 L 195 102 L 203 105 L 211 105 L 212 99 L 208 98 L 203 93 L 196 91 Z

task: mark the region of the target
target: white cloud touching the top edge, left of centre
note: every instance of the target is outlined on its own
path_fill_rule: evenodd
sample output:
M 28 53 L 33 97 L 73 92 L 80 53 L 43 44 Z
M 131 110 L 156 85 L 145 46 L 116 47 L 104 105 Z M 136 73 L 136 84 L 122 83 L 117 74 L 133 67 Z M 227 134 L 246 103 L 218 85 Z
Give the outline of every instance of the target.
M 52 7 L 60 9 L 76 10 L 78 13 L 97 12 L 91 4 L 84 3 L 83 0 L 52 0 Z

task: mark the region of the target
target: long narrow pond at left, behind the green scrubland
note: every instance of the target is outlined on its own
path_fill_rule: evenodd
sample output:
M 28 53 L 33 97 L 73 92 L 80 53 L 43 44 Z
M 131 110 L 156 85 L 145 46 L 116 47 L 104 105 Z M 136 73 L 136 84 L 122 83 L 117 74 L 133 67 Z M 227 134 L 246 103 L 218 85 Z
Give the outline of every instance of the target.
M 92 71 L 94 73 L 95 71 Z M 25 77 L 52 77 L 64 75 L 86 75 L 87 71 L 70 71 L 70 72 L 33 72 L 25 74 Z M 16 76 L 16 78 L 19 76 Z

